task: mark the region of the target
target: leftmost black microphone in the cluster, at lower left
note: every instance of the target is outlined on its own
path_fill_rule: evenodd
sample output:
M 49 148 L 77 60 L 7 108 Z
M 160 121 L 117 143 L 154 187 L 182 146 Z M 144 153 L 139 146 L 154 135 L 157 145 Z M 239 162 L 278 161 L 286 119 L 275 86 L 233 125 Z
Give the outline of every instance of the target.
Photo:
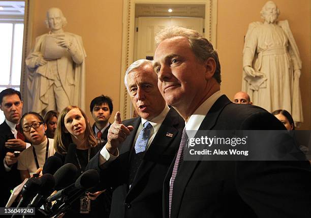
M 19 201 L 17 208 L 26 207 L 29 202 L 35 197 L 35 195 L 39 192 L 41 186 L 41 179 L 32 177 L 29 178 L 21 191 L 22 198 Z M 12 217 L 16 216 L 13 214 Z

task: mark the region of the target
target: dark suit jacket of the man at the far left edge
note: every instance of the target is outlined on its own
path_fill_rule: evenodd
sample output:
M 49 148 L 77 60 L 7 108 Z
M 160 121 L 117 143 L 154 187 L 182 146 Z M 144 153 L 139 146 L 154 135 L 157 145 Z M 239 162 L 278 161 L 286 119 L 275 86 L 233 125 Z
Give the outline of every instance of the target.
M 2 184 L 0 185 L 0 193 L 1 193 L 1 205 L 0 207 L 5 207 L 6 203 L 8 202 L 10 198 L 10 190 L 13 190 L 15 186 L 21 183 L 19 171 L 17 170 L 17 163 L 14 164 L 9 172 L 6 172 L 3 160 L 5 159 L 6 153 L 10 151 L 7 147 L 5 147 L 5 142 L 8 139 L 8 136 L 13 135 L 11 132 L 10 127 L 4 121 L 0 125 L 0 152 L 1 152 L 1 178 L 2 179 Z

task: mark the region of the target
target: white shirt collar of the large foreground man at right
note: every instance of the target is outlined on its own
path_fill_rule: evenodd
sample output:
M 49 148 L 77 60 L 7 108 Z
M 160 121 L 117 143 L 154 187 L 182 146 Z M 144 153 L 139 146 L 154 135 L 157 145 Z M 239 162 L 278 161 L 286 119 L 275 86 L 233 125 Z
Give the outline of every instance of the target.
M 197 110 L 190 116 L 188 122 L 185 122 L 186 130 L 195 130 L 197 132 L 206 114 L 213 104 L 222 96 L 221 91 L 216 91 L 208 99 L 205 100 Z

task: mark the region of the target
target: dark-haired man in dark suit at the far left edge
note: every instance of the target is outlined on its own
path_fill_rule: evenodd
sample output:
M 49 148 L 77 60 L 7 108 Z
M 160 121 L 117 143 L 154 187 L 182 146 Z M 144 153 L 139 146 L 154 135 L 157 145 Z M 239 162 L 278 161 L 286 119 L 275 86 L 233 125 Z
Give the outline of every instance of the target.
M 5 207 L 16 185 L 21 183 L 17 170 L 17 159 L 14 151 L 26 148 L 26 143 L 17 124 L 22 115 L 23 102 L 20 92 L 8 88 L 0 92 L 0 109 L 4 112 L 5 121 L 0 125 L 0 151 L 1 151 L 1 207 Z M 30 146 L 30 145 L 28 145 Z

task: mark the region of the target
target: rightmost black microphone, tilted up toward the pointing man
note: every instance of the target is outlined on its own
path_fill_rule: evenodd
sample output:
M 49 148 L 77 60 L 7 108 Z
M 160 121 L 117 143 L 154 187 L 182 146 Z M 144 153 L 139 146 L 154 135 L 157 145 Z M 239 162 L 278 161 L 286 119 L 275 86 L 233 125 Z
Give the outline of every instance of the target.
M 52 206 L 52 213 L 49 216 L 60 215 L 66 212 L 74 201 L 85 195 L 85 192 L 99 183 L 100 175 L 96 170 L 87 170 L 80 175 L 76 182 L 70 185 L 68 190 L 61 190 L 55 195 L 51 196 L 48 201 L 56 199 L 56 203 Z M 67 189 L 66 188 L 66 189 Z M 63 191 L 63 192 L 62 192 Z M 59 194 L 58 194 L 59 193 Z

